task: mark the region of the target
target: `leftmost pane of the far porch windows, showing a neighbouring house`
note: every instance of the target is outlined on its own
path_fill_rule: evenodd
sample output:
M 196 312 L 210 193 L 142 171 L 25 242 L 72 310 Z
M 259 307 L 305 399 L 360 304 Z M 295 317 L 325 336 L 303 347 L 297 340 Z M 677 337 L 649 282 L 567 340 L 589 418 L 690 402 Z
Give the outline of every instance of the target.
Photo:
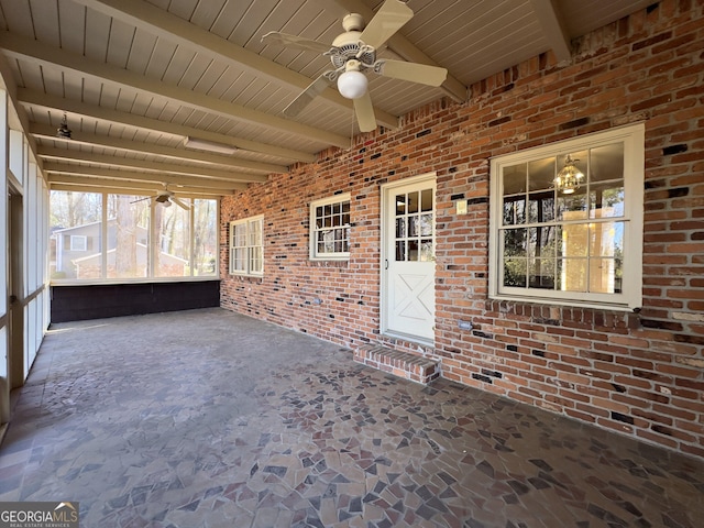
M 101 278 L 102 195 L 52 190 L 50 222 L 51 277 Z

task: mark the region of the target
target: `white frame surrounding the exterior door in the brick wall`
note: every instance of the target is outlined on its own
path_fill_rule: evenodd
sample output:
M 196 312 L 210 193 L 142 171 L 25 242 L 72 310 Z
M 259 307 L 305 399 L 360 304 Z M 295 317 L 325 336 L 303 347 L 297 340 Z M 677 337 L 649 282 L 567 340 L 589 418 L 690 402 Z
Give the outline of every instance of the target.
M 398 182 L 393 182 L 389 184 L 384 184 L 381 186 L 380 189 L 380 199 L 381 199 L 381 219 L 380 219 L 380 231 L 381 231 L 381 262 L 380 262 L 380 270 L 381 270 L 381 277 L 380 277 L 380 331 L 382 334 L 386 334 L 386 336 L 392 336 L 392 337 L 398 337 L 398 338 L 403 338 L 403 339 L 407 339 L 409 341 L 414 341 L 414 342 L 419 342 L 421 344 L 426 344 L 426 345 L 433 345 L 435 344 L 435 336 L 429 337 L 429 336 L 414 336 L 414 334 L 408 334 L 408 333 L 399 333 L 399 332 L 395 332 L 393 330 L 389 329 L 389 302 L 391 302 L 391 294 L 389 294 L 389 288 L 391 288 L 391 280 L 389 280 L 389 273 L 388 273 L 388 266 L 391 265 L 391 263 L 393 262 L 393 258 L 395 258 L 395 250 L 394 250 L 394 243 L 395 243 L 395 211 L 391 211 L 391 206 L 389 206 L 389 197 L 392 195 L 395 196 L 395 193 L 404 187 L 410 187 L 410 186 L 415 186 L 418 184 L 430 184 L 432 186 L 433 189 L 433 205 L 432 205 L 432 210 L 433 210 L 433 228 L 432 228 L 432 239 L 433 239 L 433 254 L 435 254 L 435 238 L 436 238 L 436 232 L 435 232 L 435 224 L 436 221 L 435 219 L 437 218 L 437 204 L 436 204 L 436 176 L 437 173 L 431 172 L 431 173 L 426 173 L 426 174 L 421 174 L 419 176 L 414 176 L 410 178 L 406 178 L 406 179 L 402 179 Z M 432 272 L 433 274 L 433 279 L 432 283 L 435 285 L 435 270 Z M 433 314 L 435 314 L 435 305 L 433 305 Z M 435 330 L 435 320 L 432 321 L 432 328 Z

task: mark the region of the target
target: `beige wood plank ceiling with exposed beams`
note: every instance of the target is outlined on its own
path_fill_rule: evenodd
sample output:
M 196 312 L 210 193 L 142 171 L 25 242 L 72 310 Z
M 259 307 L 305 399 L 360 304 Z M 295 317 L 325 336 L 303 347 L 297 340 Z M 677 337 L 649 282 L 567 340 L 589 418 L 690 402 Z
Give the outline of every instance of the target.
M 222 196 L 310 162 L 359 133 L 328 88 L 295 119 L 284 108 L 330 69 L 314 52 L 263 43 L 280 31 L 332 43 L 341 19 L 383 0 L 0 0 L 0 67 L 55 189 Z M 370 74 L 377 124 L 644 9 L 636 0 L 408 0 L 415 16 L 381 57 L 448 69 L 439 88 Z M 12 86 L 14 82 L 14 86 Z M 66 117 L 70 139 L 56 136 Z M 186 148 L 197 138 L 237 150 Z

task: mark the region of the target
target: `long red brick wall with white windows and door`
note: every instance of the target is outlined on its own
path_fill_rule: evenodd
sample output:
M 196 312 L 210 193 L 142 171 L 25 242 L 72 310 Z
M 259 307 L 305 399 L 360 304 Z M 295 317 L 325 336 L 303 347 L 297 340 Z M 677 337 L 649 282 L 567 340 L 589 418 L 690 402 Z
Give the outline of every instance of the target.
M 320 153 L 222 201 L 224 308 L 345 346 L 442 359 L 460 383 L 704 457 L 704 15 L 666 0 L 551 54 Z M 639 314 L 487 298 L 488 158 L 646 123 L 644 306 Z M 437 172 L 436 349 L 380 324 L 380 185 Z M 308 260 L 308 206 L 351 193 L 345 263 Z M 469 215 L 455 216 L 464 194 Z M 228 275 L 228 222 L 264 213 L 261 279 Z M 318 300 L 320 301 L 318 304 Z M 474 329 L 458 329 L 458 320 Z

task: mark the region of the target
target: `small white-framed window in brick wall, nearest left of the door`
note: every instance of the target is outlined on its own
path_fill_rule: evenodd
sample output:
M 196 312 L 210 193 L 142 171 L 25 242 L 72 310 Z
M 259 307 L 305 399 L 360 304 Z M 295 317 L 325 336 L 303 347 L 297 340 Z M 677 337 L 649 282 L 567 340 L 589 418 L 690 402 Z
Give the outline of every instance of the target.
M 350 195 L 310 204 L 310 258 L 350 258 Z

